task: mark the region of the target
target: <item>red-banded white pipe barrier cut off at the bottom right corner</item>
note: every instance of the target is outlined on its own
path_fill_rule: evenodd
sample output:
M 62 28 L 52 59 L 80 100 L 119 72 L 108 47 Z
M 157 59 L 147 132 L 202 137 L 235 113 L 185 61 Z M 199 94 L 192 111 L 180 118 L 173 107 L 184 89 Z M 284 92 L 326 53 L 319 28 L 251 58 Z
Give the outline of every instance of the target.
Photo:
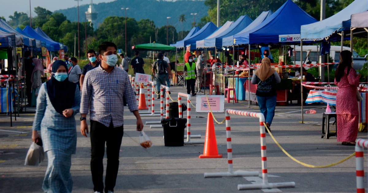
M 364 189 L 364 147 L 368 148 L 368 140 L 357 139 L 355 144 L 355 168 L 357 174 L 357 193 L 365 193 Z

